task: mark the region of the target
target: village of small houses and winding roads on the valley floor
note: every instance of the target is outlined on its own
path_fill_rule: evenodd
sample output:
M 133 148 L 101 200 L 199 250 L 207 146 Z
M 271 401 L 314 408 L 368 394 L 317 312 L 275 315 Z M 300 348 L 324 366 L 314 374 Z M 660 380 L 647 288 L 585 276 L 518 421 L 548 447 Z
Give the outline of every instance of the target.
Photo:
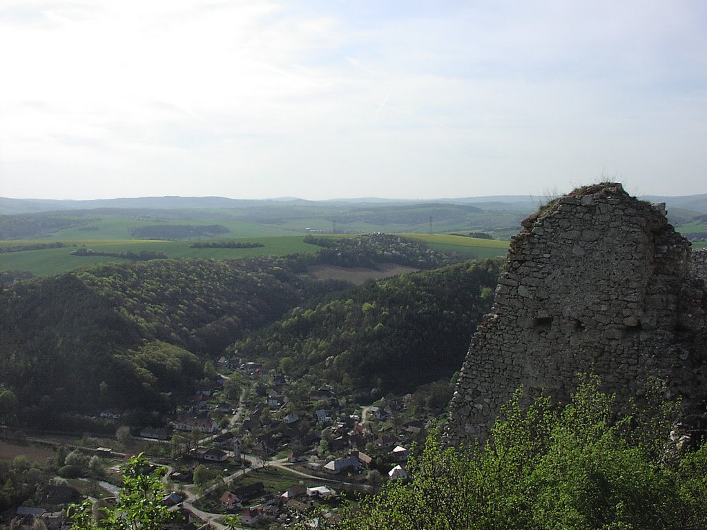
M 115 498 L 121 464 L 137 450 L 165 469 L 163 502 L 182 512 L 184 528 L 288 528 L 302 521 L 316 528 L 336 520 L 342 501 L 407 480 L 411 448 L 429 426 L 410 418 L 411 394 L 372 401 L 370 389 L 358 396 L 324 386 L 304 393 L 302 382 L 259 363 L 221 358 L 216 367 L 210 384 L 160 417 L 159 426 L 121 426 L 117 449 L 106 442 L 74 451 L 84 456 L 72 462 L 83 458 L 88 469 L 88 457 L 98 457 L 105 467 L 95 498 Z M 107 409 L 95 419 L 119 425 L 123 414 Z M 47 528 L 68 524 L 51 507 L 5 514 L 13 517 L 42 519 Z

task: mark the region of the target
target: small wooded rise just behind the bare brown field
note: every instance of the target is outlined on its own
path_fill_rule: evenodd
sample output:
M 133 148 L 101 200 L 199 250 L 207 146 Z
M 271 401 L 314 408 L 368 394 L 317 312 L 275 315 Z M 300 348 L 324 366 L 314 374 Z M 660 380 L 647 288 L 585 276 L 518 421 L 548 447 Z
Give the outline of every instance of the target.
M 399 235 L 368 234 L 343 238 L 308 235 L 304 242 L 322 247 L 315 257 L 317 264 L 376 269 L 380 263 L 395 263 L 433 269 L 458 261 Z

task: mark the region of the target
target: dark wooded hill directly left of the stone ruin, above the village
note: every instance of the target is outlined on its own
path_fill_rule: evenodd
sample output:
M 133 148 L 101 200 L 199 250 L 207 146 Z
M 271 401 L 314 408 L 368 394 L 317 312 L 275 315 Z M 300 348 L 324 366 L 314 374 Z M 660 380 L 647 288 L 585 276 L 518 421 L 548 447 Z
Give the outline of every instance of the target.
M 462 365 L 469 340 L 491 307 L 500 261 L 464 262 L 351 290 L 298 307 L 238 341 L 232 351 L 328 382 L 409 391 Z

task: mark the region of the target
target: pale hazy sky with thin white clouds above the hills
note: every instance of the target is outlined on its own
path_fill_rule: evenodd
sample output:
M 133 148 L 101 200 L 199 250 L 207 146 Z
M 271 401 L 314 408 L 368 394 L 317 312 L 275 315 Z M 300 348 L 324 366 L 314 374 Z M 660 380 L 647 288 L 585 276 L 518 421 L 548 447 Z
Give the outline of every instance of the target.
M 0 0 L 0 195 L 707 192 L 704 0 Z

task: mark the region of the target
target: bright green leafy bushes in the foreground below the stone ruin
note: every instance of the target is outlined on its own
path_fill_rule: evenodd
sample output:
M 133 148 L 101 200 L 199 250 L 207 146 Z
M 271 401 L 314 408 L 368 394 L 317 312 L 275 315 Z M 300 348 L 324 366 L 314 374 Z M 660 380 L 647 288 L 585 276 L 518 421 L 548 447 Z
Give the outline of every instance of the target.
M 664 448 L 674 415 L 653 401 L 625 413 L 585 379 L 571 403 L 519 392 L 484 447 L 444 448 L 429 437 L 392 481 L 350 510 L 339 530 L 703 529 L 707 444 Z

